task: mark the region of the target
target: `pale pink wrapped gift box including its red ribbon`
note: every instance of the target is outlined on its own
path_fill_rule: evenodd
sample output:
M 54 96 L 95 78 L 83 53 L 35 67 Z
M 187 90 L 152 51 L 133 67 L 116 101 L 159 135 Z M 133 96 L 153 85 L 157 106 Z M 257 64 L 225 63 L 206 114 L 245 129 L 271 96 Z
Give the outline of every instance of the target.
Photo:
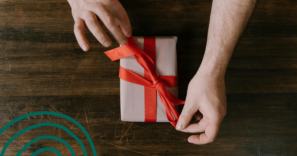
M 130 37 L 128 43 L 105 52 L 120 59 L 121 120 L 170 122 L 176 126 L 176 36 Z

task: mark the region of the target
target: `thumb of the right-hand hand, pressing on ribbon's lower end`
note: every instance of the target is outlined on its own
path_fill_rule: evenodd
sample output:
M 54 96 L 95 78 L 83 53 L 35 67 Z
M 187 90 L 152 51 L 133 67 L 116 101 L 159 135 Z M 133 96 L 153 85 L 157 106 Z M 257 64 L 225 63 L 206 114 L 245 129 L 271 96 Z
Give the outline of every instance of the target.
M 196 109 L 193 104 L 185 103 L 181 115 L 179 116 L 178 121 L 176 123 L 176 129 L 182 130 L 186 128 L 189 125 L 193 115 L 197 112 L 197 110 L 198 109 Z

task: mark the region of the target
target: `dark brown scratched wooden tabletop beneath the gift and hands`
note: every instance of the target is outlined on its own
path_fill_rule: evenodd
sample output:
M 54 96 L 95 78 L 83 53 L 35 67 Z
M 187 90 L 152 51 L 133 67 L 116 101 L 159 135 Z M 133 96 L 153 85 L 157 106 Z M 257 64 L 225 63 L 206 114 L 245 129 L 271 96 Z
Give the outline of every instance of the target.
M 206 46 L 212 1 L 125 0 L 133 36 L 177 36 L 179 97 L 198 70 Z M 227 115 L 215 142 L 194 145 L 191 133 L 170 123 L 123 122 L 120 118 L 119 61 L 87 30 L 91 44 L 83 52 L 73 33 L 66 0 L 0 1 L 0 127 L 23 114 L 66 114 L 90 134 L 98 155 L 257 155 L 297 153 L 297 1 L 261 0 L 230 60 L 225 81 Z M 180 107 L 181 108 L 181 107 Z M 181 109 L 180 109 L 181 110 Z M 15 133 L 42 122 L 69 128 L 92 155 L 89 142 L 72 122 L 53 115 L 16 122 L 0 136 L 1 148 Z M 42 135 L 69 142 L 64 130 L 40 127 L 13 141 L 5 155 Z M 42 147 L 70 155 L 58 141 L 37 141 L 23 155 Z M 39 155 L 55 155 L 42 152 Z

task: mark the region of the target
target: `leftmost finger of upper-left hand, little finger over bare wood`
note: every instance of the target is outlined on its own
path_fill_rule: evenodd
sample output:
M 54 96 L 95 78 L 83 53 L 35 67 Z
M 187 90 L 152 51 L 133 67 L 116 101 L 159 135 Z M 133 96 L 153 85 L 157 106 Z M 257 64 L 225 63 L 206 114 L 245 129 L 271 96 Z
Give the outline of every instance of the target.
M 85 21 L 81 18 L 75 18 L 75 23 L 74 23 L 74 34 L 76 37 L 76 40 L 83 49 L 83 51 L 88 51 L 90 49 L 90 44 L 89 41 L 86 38 L 86 24 Z

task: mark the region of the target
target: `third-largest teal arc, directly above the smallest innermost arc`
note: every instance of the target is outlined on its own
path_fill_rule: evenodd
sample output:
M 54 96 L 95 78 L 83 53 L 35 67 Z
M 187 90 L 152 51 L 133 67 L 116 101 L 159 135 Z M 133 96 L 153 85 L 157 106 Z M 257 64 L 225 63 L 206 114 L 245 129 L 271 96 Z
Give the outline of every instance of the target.
M 61 143 L 63 143 L 64 145 L 66 145 L 66 147 L 68 147 L 68 149 L 69 149 L 71 155 L 72 155 L 72 156 L 75 156 L 72 147 L 71 147 L 65 140 L 63 140 L 63 139 L 61 139 L 61 138 L 58 138 L 58 137 L 56 137 L 56 136 L 40 136 L 40 137 L 37 137 L 37 138 L 31 140 L 30 142 L 28 142 L 28 144 L 26 144 L 26 145 L 25 145 L 25 146 L 24 146 L 24 147 L 17 153 L 17 155 L 15 155 L 15 156 L 19 156 L 19 155 L 22 154 L 22 153 L 24 152 L 24 150 L 25 150 L 26 148 L 28 148 L 31 144 L 33 144 L 34 142 L 36 142 L 36 141 L 38 141 L 38 140 L 42 140 L 42 139 L 53 139 L 53 140 L 56 140 L 56 141 L 60 141 Z

